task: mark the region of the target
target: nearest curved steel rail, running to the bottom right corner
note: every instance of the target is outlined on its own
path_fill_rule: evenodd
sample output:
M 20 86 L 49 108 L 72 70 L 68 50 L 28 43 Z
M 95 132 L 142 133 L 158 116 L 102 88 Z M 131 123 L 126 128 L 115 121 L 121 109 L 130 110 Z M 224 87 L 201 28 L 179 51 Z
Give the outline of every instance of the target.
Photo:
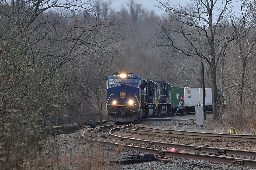
M 125 144 L 118 144 L 113 142 L 101 141 L 101 140 L 94 140 L 84 136 L 85 131 L 82 136 L 87 138 L 88 140 L 95 141 L 98 144 L 111 146 L 111 147 L 119 147 L 122 149 L 127 150 L 134 150 L 143 153 L 152 153 L 152 154 L 161 154 L 165 157 L 178 157 L 178 158 L 185 158 L 185 159 L 193 159 L 193 160 L 206 160 L 206 161 L 213 161 L 213 162 L 220 162 L 226 164 L 235 164 L 235 165 L 244 165 L 247 167 L 256 167 L 256 160 L 248 160 L 248 159 L 236 159 L 231 157 L 223 157 L 223 156 L 216 156 L 216 155 L 203 155 L 203 154 L 193 154 L 193 153 L 182 153 L 182 152 L 169 152 L 165 150 L 158 150 L 153 148 L 144 148 L 139 146 L 132 146 L 132 145 L 125 145 Z

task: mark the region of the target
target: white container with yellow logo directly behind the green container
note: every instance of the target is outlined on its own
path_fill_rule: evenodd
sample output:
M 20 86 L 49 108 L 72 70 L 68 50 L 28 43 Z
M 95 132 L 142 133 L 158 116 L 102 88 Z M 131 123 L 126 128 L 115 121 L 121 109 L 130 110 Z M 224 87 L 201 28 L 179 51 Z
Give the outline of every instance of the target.
M 184 105 L 197 106 L 199 104 L 199 88 L 184 87 Z

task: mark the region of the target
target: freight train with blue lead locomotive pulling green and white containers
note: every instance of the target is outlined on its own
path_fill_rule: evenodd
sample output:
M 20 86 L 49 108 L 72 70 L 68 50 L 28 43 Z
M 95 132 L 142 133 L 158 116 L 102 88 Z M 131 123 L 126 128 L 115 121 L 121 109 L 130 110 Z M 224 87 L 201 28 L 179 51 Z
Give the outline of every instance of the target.
M 142 79 L 133 73 L 115 73 L 107 80 L 106 111 L 113 122 L 133 122 L 159 115 L 195 112 L 202 105 L 202 88 L 172 87 L 165 81 Z M 181 97 L 184 100 L 180 103 Z M 206 111 L 212 111 L 212 90 L 205 89 Z

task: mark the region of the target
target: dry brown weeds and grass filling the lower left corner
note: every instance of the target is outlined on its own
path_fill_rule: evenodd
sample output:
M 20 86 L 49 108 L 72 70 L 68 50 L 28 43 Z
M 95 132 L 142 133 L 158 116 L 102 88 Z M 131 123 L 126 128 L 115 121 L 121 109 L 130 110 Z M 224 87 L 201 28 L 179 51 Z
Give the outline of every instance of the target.
M 0 169 L 110 169 L 108 162 L 118 150 L 102 150 L 97 143 L 70 134 L 68 142 L 61 135 L 52 136 L 52 128 L 42 122 L 41 112 L 27 115 L 12 109 L 2 114 L 0 134 Z M 112 153 L 112 154 L 111 154 Z M 111 155 L 110 155 L 111 154 Z M 114 165 L 113 165 L 114 166 Z M 118 167 L 118 165 L 115 165 Z

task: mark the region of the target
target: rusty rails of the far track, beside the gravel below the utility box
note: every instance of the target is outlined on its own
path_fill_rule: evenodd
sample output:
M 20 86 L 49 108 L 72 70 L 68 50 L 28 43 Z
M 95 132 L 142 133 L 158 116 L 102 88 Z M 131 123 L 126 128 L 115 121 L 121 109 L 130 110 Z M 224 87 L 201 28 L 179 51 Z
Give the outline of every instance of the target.
M 188 138 L 197 138 L 197 139 L 216 139 L 216 140 L 234 140 L 234 141 L 250 141 L 256 142 L 256 135 L 244 135 L 244 134 L 224 134 L 224 133 L 206 133 L 206 132 L 189 132 L 181 130 L 163 130 L 163 129 L 154 129 L 140 127 L 132 125 L 137 129 L 145 130 L 135 130 L 123 128 L 122 130 L 133 132 L 133 133 L 144 133 L 144 134 L 156 134 L 164 136 L 175 136 L 175 137 L 188 137 Z

